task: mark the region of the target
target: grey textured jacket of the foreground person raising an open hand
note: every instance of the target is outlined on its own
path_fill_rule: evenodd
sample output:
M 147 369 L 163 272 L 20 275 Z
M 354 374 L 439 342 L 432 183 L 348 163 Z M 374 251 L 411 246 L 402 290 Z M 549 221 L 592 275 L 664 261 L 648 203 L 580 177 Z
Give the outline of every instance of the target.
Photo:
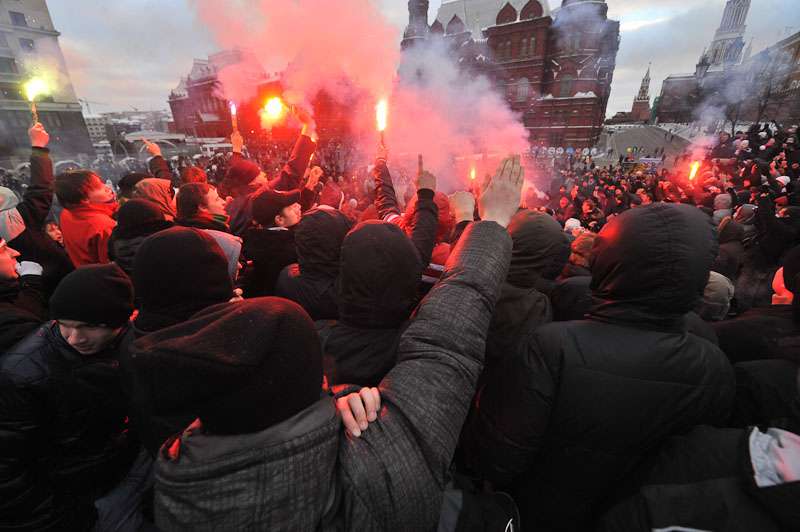
M 214 436 L 195 425 L 162 448 L 159 528 L 434 529 L 510 254 L 499 225 L 465 231 L 403 334 L 382 412 L 361 438 L 345 435 L 324 397 L 262 432 Z

